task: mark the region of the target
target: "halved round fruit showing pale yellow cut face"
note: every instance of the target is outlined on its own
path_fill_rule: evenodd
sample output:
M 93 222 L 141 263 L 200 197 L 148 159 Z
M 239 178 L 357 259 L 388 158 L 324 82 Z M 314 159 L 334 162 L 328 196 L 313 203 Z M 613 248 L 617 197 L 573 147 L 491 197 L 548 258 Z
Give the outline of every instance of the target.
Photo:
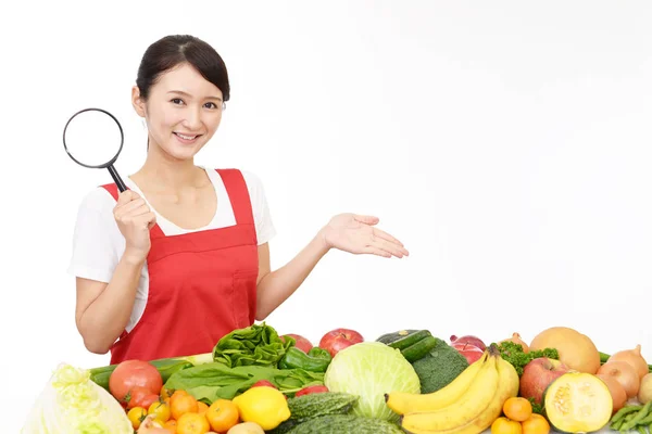
M 613 413 L 609 387 L 590 373 L 569 372 L 554 380 L 543 394 L 546 417 L 562 433 L 602 430 Z

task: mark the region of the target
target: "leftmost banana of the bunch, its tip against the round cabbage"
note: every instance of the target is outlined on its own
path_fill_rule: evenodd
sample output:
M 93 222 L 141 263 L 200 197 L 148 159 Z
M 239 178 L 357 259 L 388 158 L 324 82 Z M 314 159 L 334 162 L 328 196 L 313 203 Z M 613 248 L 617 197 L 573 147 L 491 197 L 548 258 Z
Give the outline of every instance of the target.
M 408 414 L 416 411 L 435 411 L 456 401 L 471 386 L 480 368 L 487 362 L 488 352 L 468 366 L 452 382 L 429 394 L 413 394 L 391 392 L 385 394 L 387 407 L 397 414 Z

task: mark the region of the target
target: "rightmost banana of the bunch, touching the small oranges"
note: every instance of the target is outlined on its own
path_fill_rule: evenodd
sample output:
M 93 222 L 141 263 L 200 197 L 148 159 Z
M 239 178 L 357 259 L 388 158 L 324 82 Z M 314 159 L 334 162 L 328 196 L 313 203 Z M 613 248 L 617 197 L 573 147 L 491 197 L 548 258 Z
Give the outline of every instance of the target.
M 491 426 L 502 413 L 505 401 L 518 395 L 518 374 L 512 365 L 499 357 L 499 385 L 493 398 L 475 419 L 449 430 L 408 431 L 410 434 L 480 434 Z

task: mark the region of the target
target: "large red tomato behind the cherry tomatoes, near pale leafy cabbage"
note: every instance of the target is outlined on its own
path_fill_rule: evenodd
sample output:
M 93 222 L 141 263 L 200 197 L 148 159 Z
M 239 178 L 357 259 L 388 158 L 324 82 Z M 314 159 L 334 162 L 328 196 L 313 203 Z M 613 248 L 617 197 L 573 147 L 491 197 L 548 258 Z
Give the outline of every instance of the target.
M 134 387 L 146 387 L 150 393 L 159 395 L 163 386 L 161 374 L 148 361 L 125 360 L 120 363 L 109 378 L 109 391 L 118 401 Z

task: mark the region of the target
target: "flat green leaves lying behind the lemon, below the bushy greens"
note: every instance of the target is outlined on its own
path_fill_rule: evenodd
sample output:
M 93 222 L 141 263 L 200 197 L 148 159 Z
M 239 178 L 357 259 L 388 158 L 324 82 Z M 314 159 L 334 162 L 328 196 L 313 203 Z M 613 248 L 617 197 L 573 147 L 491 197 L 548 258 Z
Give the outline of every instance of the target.
M 186 391 L 196 399 L 211 405 L 218 398 L 233 399 L 261 380 L 267 380 L 280 392 L 292 395 L 305 386 L 324 384 L 324 374 L 262 366 L 229 368 L 222 362 L 213 362 L 177 371 L 165 386 Z

